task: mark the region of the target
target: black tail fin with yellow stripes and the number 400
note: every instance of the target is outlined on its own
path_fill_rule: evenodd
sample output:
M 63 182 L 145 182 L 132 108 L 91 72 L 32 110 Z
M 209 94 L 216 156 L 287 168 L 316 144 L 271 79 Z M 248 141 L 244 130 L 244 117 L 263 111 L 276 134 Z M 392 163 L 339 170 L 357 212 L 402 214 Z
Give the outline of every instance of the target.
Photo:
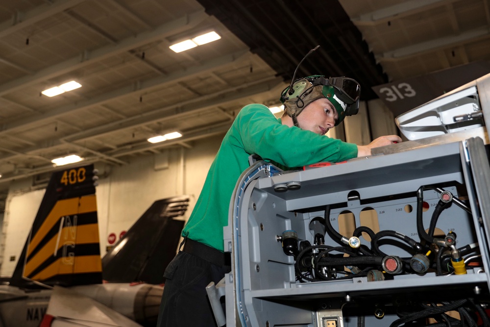
M 102 282 L 94 165 L 53 173 L 11 285 Z

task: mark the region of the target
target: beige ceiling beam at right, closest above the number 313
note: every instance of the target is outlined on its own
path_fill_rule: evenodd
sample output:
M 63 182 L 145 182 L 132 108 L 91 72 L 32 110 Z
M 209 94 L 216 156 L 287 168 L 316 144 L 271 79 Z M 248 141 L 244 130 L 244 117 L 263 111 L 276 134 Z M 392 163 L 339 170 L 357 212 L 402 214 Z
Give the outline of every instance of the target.
M 421 52 L 427 52 L 431 50 L 437 50 L 449 46 L 463 45 L 469 41 L 473 41 L 477 38 L 488 37 L 490 35 L 490 28 L 488 26 L 473 29 L 459 35 L 451 35 L 441 37 L 434 40 L 429 40 L 414 44 L 412 46 L 403 47 L 400 49 L 384 52 L 381 56 L 376 56 L 376 60 L 389 61 L 404 58 L 410 55 L 419 54 Z

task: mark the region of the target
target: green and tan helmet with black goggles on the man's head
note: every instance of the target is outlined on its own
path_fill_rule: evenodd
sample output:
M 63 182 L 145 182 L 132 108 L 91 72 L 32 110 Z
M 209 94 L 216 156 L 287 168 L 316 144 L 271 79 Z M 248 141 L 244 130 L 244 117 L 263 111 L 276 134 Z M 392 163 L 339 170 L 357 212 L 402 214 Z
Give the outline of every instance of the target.
M 311 102 L 327 98 L 337 110 L 339 125 L 345 116 L 352 116 L 359 112 L 359 96 L 361 86 L 357 81 L 348 77 L 325 78 L 322 75 L 313 75 L 296 79 L 293 83 L 292 93 L 289 86 L 281 92 L 280 101 L 290 117 L 298 116 Z M 291 93 L 291 94 L 290 94 Z

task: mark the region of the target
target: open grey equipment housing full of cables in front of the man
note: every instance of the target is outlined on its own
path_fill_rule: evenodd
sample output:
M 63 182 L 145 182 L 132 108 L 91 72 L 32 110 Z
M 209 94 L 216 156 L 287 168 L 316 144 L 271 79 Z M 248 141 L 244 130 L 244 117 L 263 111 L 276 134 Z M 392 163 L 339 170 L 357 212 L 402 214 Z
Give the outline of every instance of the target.
M 476 136 L 456 125 L 342 164 L 283 172 L 253 163 L 224 227 L 232 271 L 208 286 L 218 325 L 490 326 L 490 92 L 481 82 L 449 95 L 483 111 L 464 113 L 479 119 Z M 430 110 L 458 106 L 453 98 Z

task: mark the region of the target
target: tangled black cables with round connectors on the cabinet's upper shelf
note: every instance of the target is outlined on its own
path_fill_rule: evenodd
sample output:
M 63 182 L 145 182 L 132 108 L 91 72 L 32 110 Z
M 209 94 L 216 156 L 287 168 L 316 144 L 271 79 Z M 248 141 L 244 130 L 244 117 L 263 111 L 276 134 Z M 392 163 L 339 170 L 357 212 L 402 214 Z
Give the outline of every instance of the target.
M 423 208 L 423 191 L 433 189 L 436 192 L 446 192 L 440 188 L 434 188 L 430 186 L 420 186 L 417 190 L 417 233 L 420 237 L 419 240 L 414 240 L 407 235 L 404 235 L 395 230 L 381 230 L 377 233 L 367 227 L 359 226 L 352 233 L 353 237 L 361 238 L 363 233 L 366 233 L 370 237 L 369 246 L 366 244 L 361 244 L 357 249 L 352 249 L 349 244 L 350 238 L 340 234 L 331 224 L 330 220 L 330 204 L 324 207 L 324 218 L 317 217 L 320 223 L 325 226 L 325 233 L 330 236 L 331 240 L 338 243 L 340 246 L 332 247 L 324 245 L 324 238 L 322 233 L 315 234 L 315 245 L 311 245 L 307 241 L 300 242 L 300 252 L 295 258 L 294 270 L 296 275 L 296 280 L 299 281 L 321 281 L 321 280 L 334 280 L 334 279 L 345 279 L 352 277 L 366 276 L 369 270 L 383 270 L 382 261 L 383 258 L 389 256 L 388 254 L 380 250 L 380 246 L 386 242 L 382 242 L 383 238 L 394 238 L 403 243 L 406 243 L 408 247 L 403 244 L 399 246 L 405 251 L 409 251 L 410 257 L 399 258 L 403 264 L 402 270 L 396 272 L 395 274 L 419 274 L 420 271 L 416 271 L 412 267 L 412 260 L 421 260 L 424 257 L 420 256 L 420 253 L 424 255 L 428 253 L 431 249 L 436 239 L 434 238 L 434 230 L 441 212 L 449 207 L 452 201 L 442 201 L 440 200 L 432 214 L 429 232 L 427 233 L 424 229 L 422 222 L 422 208 Z M 455 203 L 466 210 L 466 206 L 460 203 L 457 198 L 452 198 Z M 467 210 L 466 210 L 467 211 Z M 326 236 L 326 235 L 325 235 Z M 384 240 L 383 240 L 384 241 Z M 389 240 L 392 241 L 392 240 Z M 425 244 L 421 244 L 424 242 Z M 305 243 L 307 242 L 307 243 Z M 399 242 L 397 242 L 399 243 Z M 449 264 L 451 251 L 449 248 L 444 248 L 440 245 L 440 240 L 438 239 L 439 253 L 436 258 L 430 259 L 431 261 L 425 263 L 428 267 L 437 269 L 437 274 L 439 276 L 443 275 L 444 271 L 449 271 L 451 273 L 451 266 Z M 411 249 L 411 250 L 410 250 Z M 460 249 L 457 249 L 460 251 Z M 470 252 L 475 252 L 476 247 L 467 245 L 461 248 L 461 255 L 466 255 Z M 341 252 L 346 253 L 349 256 L 343 256 L 341 254 L 332 254 L 331 252 Z M 432 250 L 434 252 L 434 250 Z M 415 255 L 418 255 L 416 259 L 413 259 Z M 427 258 L 429 254 L 425 254 Z M 434 257 L 434 255 L 432 255 Z M 418 262 L 418 261 L 416 261 Z M 351 271 L 345 271 L 344 266 L 355 267 L 356 269 L 351 269 Z M 447 267 L 446 267 L 447 266 Z M 337 274 L 343 274 L 343 277 L 337 277 Z

